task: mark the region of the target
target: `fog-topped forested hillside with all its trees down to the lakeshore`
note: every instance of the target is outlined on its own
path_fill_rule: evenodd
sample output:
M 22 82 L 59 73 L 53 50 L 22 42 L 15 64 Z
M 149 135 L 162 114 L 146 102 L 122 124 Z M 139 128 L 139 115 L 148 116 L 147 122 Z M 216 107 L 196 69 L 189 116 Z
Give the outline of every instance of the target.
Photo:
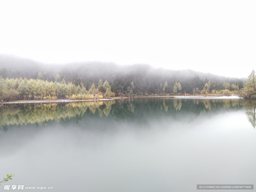
M 168 70 L 146 64 L 120 66 L 96 61 L 46 64 L 9 55 L 0 55 L 0 66 L 3 100 L 238 94 L 246 82 L 245 78 L 210 73 L 204 76 L 193 70 Z

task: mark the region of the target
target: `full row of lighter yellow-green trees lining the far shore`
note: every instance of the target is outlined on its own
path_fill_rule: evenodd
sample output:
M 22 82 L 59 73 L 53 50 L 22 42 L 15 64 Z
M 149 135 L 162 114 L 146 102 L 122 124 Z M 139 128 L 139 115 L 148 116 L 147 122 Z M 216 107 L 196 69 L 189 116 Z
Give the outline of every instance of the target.
M 204 80 L 206 81 L 206 80 Z M 37 79 L 27 79 L 27 78 L 2 78 L 0 77 L 0 97 L 1 99 L 23 99 L 23 100 L 34 100 L 34 99 L 93 99 L 93 98 L 109 98 L 109 97 L 133 97 L 133 96 L 158 96 L 158 95 L 178 95 L 178 94 L 231 94 L 239 93 L 241 90 L 238 85 L 230 85 L 228 82 L 224 83 L 223 90 L 211 89 L 211 82 L 208 80 L 207 83 L 199 90 L 198 87 L 194 88 L 193 91 L 186 92 L 183 90 L 183 86 L 180 82 L 175 82 L 174 85 L 168 85 L 168 82 L 160 83 L 155 92 L 151 89 L 141 90 L 140 85 L 132 81 L 128 84 L 125 89 L 122 84 L 112 82 L 113 87 L 110 86 L 109 82 L 105 80 L 103 83 L 102 79 L 98 81 L 95 85 L 91 84 L 87 90 L 83 83 L 78 85 L 72 82 L 66 82 L 65 76 L 60 81 L 59 74 L 56 74 L 55 81 L 44 81 L 41 80 L 41 73 L 38 73 Z M 135 86 L 135 85 L 136 86 Z M 185 86 L 185 85 L 184 85 Z M 171 89 L 171 88 L 172 89 Z M 113 92 L 115 91 L 115 92 Z M 171 92 L 172 91 L 172 92 Z

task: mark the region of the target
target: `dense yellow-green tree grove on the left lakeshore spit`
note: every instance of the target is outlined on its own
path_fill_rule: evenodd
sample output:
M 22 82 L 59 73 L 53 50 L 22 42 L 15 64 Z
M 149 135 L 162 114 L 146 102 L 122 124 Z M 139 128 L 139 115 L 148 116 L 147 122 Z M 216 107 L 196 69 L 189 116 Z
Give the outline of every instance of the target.
M 89 90 L 81 83 L 81 86 L 74 85 L 72 82 L 66 83 L 65 78 L 59 80 L 56 75 L 55 82 L 44 81 L 40 79 L 3 79 L 0 77 L 0 97 L 5 100 L 15 99 L 93 99 L 115 97 L 115 93 L 111 92 L 108 81 L 100 79 L 97 88 L 94 83 Z

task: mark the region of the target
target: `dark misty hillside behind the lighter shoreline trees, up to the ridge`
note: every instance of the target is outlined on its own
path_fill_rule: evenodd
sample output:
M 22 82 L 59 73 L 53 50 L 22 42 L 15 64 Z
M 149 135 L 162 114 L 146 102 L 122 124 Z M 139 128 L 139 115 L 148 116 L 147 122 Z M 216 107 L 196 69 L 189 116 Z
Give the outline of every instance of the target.
M 211 90 L 223 89 L 224 83 L 235 84 L 241 89 L 245 78 L 230 78 L 217 76 L 211 73 L 187 70 L 170 70 L 154 68 L 146 64 L 117 65 L 111 62 L 72 62 L 66 64 L 46 64 L 32 59 L 20 58 L 10 55 L 0 55 L 0 76 L 6 78 L 37 79 L 42 73 L 42 80 L 55 82 L 56 74 L 60 80 L 72 82 L 76 86 L 81 83 L 88 90 L 92 83 L 98 84 L 99 80 L 108 81 L 111 91 L 118 93 L 125 91 L 131 82 L 137 92 L 159 93 L 163 91 L 164 83 L 168 86 L 166 93 L 172 93 L 175 82 L 180 82 L 181 92 L 193 93 L 198 88 L 201 90 L 205 83 L 211 82 Z

